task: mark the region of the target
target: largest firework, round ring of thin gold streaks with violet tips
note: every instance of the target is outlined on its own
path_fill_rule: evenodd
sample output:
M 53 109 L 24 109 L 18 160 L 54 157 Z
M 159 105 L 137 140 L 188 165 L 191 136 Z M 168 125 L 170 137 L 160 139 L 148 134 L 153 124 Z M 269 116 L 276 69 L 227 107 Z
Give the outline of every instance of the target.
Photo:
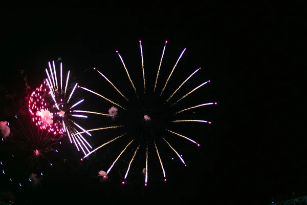
M 158 78 L 159 78 L 159 73 L 161 71 L 161 65 L 162 65 L 162 60 L 164 57 L 164 53 L 166 50 L 166 44 L 167 42 L 165 42 L 164 48 L 163 48 L 163 52 L 162 52 L 162 56 L 161 56 L 161 60 L 160 60 L 160 64 L 158 67 L 158 72 L 157 72 L 157 76 L 155 77 L 155 85 L 153 87 L 153 92 L 149 89 L 146 89 L 146 72 L 145 72 L 145 67 L 144 67 L 144 59 L 143 59 L 143 48 L 142 48 L 142 43 L 141 41 L 140 43 L 140 51 L 141 51 L 141 69 L 142 71 L 142 76 L 143 76 L 143 89 L 144 89 L 144 93 L 138 93 L 137 89 L 135 87 L 135 84 L 133 83 L 133 80 L 130 77 L 130 74 L 128 72 L 128 69 L 124 63 L 123 57 L 119 54 L 118 51 L 116 51 L 116 53 L 118 54 L 120 61 L 124 67 L 124 70 L 127 74 L 127 77 L 129 79 L 129 82 L 131 84 L 131 86 L 133 87 L 135 93 L 136 93 L 136 98 L 135 99 L 130 99 L 129 100 L 125 97 L 124 94 L 122 94 L 122 92 L 111 82 L 111 80 L 109 80 L 104 74 L 102 74 L 100 71 L 98 71 L 96 68 L 94 68 L 95 71 L 97 71 L 103 78 L 106 79 L 106 81 L 112 85 L 112 87 L 123 97 L 125 98 L 125 101 L 122 103 L 118 103 L 115 102 L 105 96 L 103 96 L 102 94 L 99 94 L 98 92 L 92 91 L 90 89 L 87 88 L 83 88 L 80 87 L 81 89 L 91 92 L 101 98 L 103 98 L 104 100 L 108 101 L 112 106 L 117 106 L 119 108 L 121 108 L 122 110 L 119 110 L 118 113 L 119 116 L 116 116 L 118 119 L 124 118 L 124 123 L 123 125 L 114 125 L 114 126 L 109 126 L 109 127 L 102 127 L 102 128 L 97 128 L 97 129 L 91 129 L 91 130 L 86 130 L 86 132 L 92 132 L 95 130 L 104 130 L 104 129 L 117 129 L 117 128 L 123 128 L 126 129 L 125 133 L 115 137 L 109 141 L 106 141 L 103 145 L 97 147 L 96 149 L 94 149 L 93 151 L 91 151 L 90 153 L 86 154 L 82 160 L 88 156 L 90 156 L 92 153 L 96 152 L 98 149 L 104 147 L 105 145 L 117 140 L 117 139 L 124 139 L 126 137 L 133 137 L 133 139 L 129 141 L 129 143 L 126 145 L 126 147 L 121 151 L 121 153 L 118 155 L 118 157 L 115 159 L 115 161 L 112 163 L 112 166 L 108 169 L 108 171 L 106 172 L 106 174 L 108 174 L 111 169 L 113 168 L 113 166 L 115 165 L 115 163 L 118 161 L 118 159 L 122 156 L 122 154 L 125 152 L 125 150 L 127 149 L 128 146 L 134 147 L 135 142 L 138 142 L 138 145 L 135 146 L 136 149 L 134 151 L 133 156 L 130 158 L 130 162 L 128 165 L 128 168 L 126 170 L 124 179 L 122 181 L 122 183 L 125 183 L 125 180 L 127 178 L 127 175 L 129 173 L 130 167 L 131 167 L 131 163 L 133 163 L 135 157 L 136 157 L 136 153 L 137 152 L 142 152 L 142 154 L 146 155 L 146 161 L 144 161 L 145 163 L 145 168 L 143 170 L 143 173 L 145 175 L 145 186 L 147 186 L 147 181 L 148 181 L 148 167 L 150 166 L 150 163 L 148 162 L 150 159 L 150 149 L 155 150 L 154 152 L 157 153 L 159 161 L 160 161 L 160 165 L 162 168 L 162 173 L 164 176 L 164 181 L 166 181 L 166 172 L 164 170 L 163 167 L 163 162 L 162 159 L 160 157 L 160 152 L 161 150 L 158 149 L 158 140 L 161 141 L 161 143 L 165 143 L 166 146 L 168 148 L 170 148 L 170 150 L 172 150 L 174 153 L 176 153 L 176 155 L 179 157 L 179 159 L 183 162 L 183 164 L 186 166 L 186 163 L 184 161 L 184 159 L 182 158 L 182 156 L 176 151 L 176 149 L 171 146 L 169 140 L 166 139 L 167 136 L 178 136 L 184 139 L 187 139 L 189 141 L 191 141 L 192 143 L 194 143 L 196 146 L 200 147 L 200 144 L 196 141 L 194 141 L 193 139 L 190 139 L 182 134 L 179 134 L 177 132 L 174 132 L 170 129 L 168 129 L 165 125 L 168 125 L 168 122 L 203 122 L 203 123 L 208 123 L 210 124 L 210 121 L 207 120 L 203 120 L 203 119 L 178 119 L 178 115 L 182 112 L 191 110 L 191 109 L 195 109 L 195 108 L 199 108 L 199 107 L 203 107 L 203 106 L 209 106 L 209 105 L 216 105 L 216 103 L 206 103 L 206 104 L 202 104 L 202 105 L 196 105 L 193 107 L 189 107 L 189 108 L 185 108 L 185 109 L 177 109 L 174 110 L 176 108 L 175 105 L 179 103 L 179 101 L 183 100 L 184 98 L 188 97 L 188 95 L 190 95 L 192 92 L 200 89 L 202 86 L 206 85 L 207 83 L 210 82 L 210 80 L 205 81 L 205 83 L 201 84 L 200 86 L 194 88 L 193 90 L 191 90 L 190 92 L 188 92 L 185 95 L 182 95 L 182 97 L 179 97 L 177 100 L 174 100 L 172 103 L 170 103 L 171 99 L 174 98 L 175 94 L 179 93 L 179 90 L 184 86 L 185 83 L 187 83 L 187 81 L 196 73 L 198 72 L 201 68 L 196 69 L 192 74 L 190 74 L 184 81 L 183 83 L 176 89 L 174 90 L 171 94 L 168 94 L 167 98 L 164 98 L 163 93 L 166 92 L 166 87 L 169 83 L 169 80 L 171 78 L 171 76 L 174 73 L 175 68 L 177 67 L 177 65 L 179 64 L 180 59 L 182 58 L 184 52 L 186 51 L 186 49 L 184 49 L 181 54 L 179 55 L 176 64 L 173 66 L 165 84 L 163 85 L 163 89 L 161 90 L 161 93 L 159 93 L 157 95 L 156 90 L 157 90 L 157 84 L 158 84 Z M 147 85 L 148 86 L 148 85 Z M 144 108 L 144 102 L 149 104 L 149 109 Z M 111 106 L 110 105 L 110 106 Z M 155 109 L 157 107 L 160 107 L 162 109 L 155 111 Z M 117 110 L 116 110 L 117 111 Z M 155 114 L 158 113 L 158 114 Z M 162 114 L 161 114 L 162 113 Z M 164 115 L 163 115 L 164 113 Z M 140 126 L 141 125 L 141 126 Z M 139 129 L 141 128 L 141 129 Z M 146 134 L 145 131 L 146 130 Z M 156 131 L 159 130 L 159 131 Z M 84 133 L 80 132 L 80 133 Z M 139 138 L 137 138 L 137 136 L 139 136 Z M 134 143 L 133 143 L 134 142 Z M 157 142 L 157 143 L 156 143 Z M 146 145 L 145 145 L 146 144 Z M 154 146 L 151 146 L 154 145 Z M 144 150 L 142 151 L 141 149 Z M 164 150 L 162 150 L 164 151 Z

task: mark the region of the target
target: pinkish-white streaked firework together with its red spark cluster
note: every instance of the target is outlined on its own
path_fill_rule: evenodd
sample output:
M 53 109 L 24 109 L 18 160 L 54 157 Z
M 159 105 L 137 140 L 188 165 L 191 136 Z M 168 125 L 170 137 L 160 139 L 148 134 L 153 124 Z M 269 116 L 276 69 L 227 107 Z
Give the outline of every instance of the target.
M 32 115 L 32 121 L 40 129 L 48 130 L 54 136 L 63 136 L 66 133 L 78 151 L 82 150 L 84 155 L 89 153 L 92 149 L 91 145 L 82 134 L 78 133 L 79 130 L 85 131 L 85 129 L 78 125 L 75 119 L 87 118 L 86 115 L 78 113 L 102 113 L 73 110 L 83 103 L 84 99 L 73 97 L 78 83 L 71 88 L 69 87 L 70 71 L 67 73 L 64 84 L 62 63 L 60 63 L 60 80 L 58 80 L 54 61 L 52 61 L 52 66 L 49 62 L 49 70 L 46 69 L 46 73 L 48 78 L 30 96 L 29 111 Z M 84 133 L 91 136 L 89 132 Z

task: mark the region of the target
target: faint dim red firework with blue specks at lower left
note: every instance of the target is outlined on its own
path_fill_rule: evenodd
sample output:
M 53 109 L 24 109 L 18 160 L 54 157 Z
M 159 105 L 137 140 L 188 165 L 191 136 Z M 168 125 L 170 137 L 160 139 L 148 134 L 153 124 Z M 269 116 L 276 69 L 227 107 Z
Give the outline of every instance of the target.
M 19 119 L 16 115 L 9 124 L 10 135 L 1 146 L 2 178 L 20 187 L 26 181 L 37 185 L 43 171 L 53 167 L 58 158 L 60 138 L 33 124 L 32 120 Z

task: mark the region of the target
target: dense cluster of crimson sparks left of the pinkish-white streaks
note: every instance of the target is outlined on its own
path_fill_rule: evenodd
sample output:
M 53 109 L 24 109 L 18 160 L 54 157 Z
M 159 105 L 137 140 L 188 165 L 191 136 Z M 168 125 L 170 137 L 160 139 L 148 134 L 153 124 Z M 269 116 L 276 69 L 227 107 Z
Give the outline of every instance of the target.
M 41 130 L 48 130 L 48 132 L 53 132 L 54 135 L 58 133 L 63 134 L 63 128 L 59 128 L 57 123 L 50 123 L 46 121 L 46 117 L 37 113 L 41 110 L 51 112 L 51 110 L 55 108 L 55 105 L 52 105 L 52 102 L 48 99 L 52 100 L 52 97 L 48 85 L 46 81 L 44 81 L 43 84 L 36 88 L 36 90 L 33 91 L 30 96 L 29 111 L 32 115 L 32 121 L 35 122 L 35 125 L 38 126 Z M 51 119 L 53 119 L 53 116 L 51 116 Z

